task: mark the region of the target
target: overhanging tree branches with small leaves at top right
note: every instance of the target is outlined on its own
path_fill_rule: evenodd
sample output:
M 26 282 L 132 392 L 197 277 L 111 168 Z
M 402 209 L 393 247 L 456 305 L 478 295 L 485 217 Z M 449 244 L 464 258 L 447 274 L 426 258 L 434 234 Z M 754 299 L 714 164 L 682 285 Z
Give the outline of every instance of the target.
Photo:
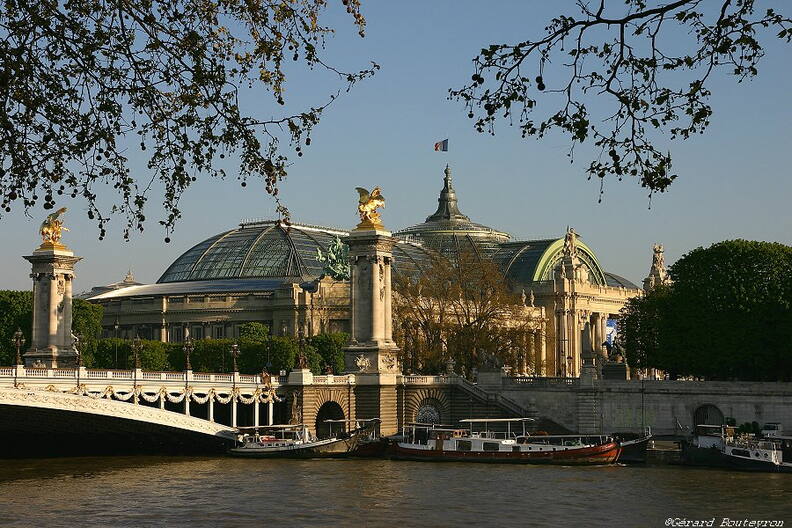
M 754 77 L 769 32 L 792 41 L 789 16 L 757 3 L 579 1 L 579 14 L 552 19 L 543 36 L 483 48 L 471 82 L 450 98 L 465 104 L 479 132 L 494 134 L 501 118 L 516 121 L 523 137 L 558 131 L 571 141 L 570 157 L 590 139 L 589 178 L 630 176 L 664 191 L 676 175 L 658 138 L 706 130 L 710 77 Z

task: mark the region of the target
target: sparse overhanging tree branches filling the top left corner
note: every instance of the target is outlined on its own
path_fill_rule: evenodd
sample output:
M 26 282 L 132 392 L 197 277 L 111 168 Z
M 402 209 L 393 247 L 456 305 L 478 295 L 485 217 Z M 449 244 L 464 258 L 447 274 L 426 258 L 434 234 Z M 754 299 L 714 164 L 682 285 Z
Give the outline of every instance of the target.
M 363 36 L 360 0 L 343 4 Z M 327 106 L 378 68 L 347 73 L 323 60 L 333 32 L 322 24 L 327 8 L 327 0 L 5 2 L 2 210 L 40 202 L 52 209 L 61 195 L 80 196 L 100 238 L 112 214 L 125 217 L 128 237 L 143 229 L 152 181 L 159 180 L 167 234 L 182 193 L 199 175 L 226 177 L 227 154 L 239 159 L 234 172 L 243 187 L 262 178 L 277 201 L 289 164 L 281 142 L 302 155 Z M 291 62 L 336 77 L 339 90 L 304 110 L 279 109 Z M 256 112 L 241 108 L 248 92 Z M 127 157 L 138 148 L 148 156 L 140 178 Z M 99 184 L 117 192 L 109 208 L 98 201 Z

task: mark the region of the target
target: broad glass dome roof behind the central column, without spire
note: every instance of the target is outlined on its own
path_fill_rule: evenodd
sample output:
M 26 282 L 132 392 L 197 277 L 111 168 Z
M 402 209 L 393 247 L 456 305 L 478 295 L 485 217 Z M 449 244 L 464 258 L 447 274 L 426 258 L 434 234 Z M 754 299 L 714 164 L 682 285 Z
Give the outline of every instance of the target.
M 336 238 L 348 233 L 279 221 L 243 223 L 237 229 L 200 242 L 177 258 L 158 283 L 216 279 L 308 280 L 323 272 L 317 249 L 326 252 Z M 417 244 L 399 242 L 393 248 L 395 270 L 417 273 L 429 259 Z

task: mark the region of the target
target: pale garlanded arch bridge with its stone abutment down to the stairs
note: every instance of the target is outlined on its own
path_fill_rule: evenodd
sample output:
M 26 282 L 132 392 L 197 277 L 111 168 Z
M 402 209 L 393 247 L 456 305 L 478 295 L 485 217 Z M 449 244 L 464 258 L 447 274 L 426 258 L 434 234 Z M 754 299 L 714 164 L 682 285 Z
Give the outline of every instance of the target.
M 0 368 L 0 456 L 221 451 L 238 427 L 381 418 L 383 434 L 414 421 L 525 416 L 508 397 L 459 376 L 288 376 L 77 368 Z

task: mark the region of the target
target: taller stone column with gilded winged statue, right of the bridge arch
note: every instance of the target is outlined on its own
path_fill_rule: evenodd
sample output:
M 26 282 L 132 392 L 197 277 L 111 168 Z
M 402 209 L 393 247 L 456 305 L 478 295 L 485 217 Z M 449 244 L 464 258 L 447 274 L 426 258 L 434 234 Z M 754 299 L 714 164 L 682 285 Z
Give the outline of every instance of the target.
M 355 415 L 380 418 L 384 435 L 396 432 L 396 379 L 399 349 L 392 336 L 391 263 L 395 240 L 377 209 L 385 198 L 379 187 L 357 188 L 360 223 L 344 240 L 351 268 L 352 335 L 345 349 L 346 371 L 355 374 Z

